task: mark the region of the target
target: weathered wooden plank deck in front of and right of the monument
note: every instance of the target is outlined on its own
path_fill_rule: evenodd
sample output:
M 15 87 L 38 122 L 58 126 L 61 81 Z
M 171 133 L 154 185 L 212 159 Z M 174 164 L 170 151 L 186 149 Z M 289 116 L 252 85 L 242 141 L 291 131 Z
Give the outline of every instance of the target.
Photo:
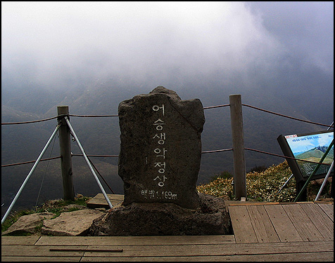
M 3 236 L 2 261 L 334 261 L 334 204 L 227 201 L 227 236 Z

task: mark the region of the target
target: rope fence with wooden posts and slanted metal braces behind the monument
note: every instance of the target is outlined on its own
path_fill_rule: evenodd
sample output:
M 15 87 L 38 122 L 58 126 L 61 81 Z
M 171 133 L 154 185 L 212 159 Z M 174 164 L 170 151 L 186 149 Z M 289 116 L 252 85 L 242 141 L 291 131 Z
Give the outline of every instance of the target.
M 328 127 L 328 130 L 330 128 L 334 128 L 334 125 L 333 125 L 334 121 L 329 126 L 329 125 L 325 125 L 325 124 L 322 124 L 322 123 L 316 123 L 316 122 L 313 122 L 313 121 L 306 121 L 306 120 L 303 120 L 303 119 L 294 118 L 292 116 L 286 116 L 284 114 L 278 114 L 276 112 L 270 112 L 266 109 L 260 109 L 258 107 L 254 107 L 254 106 L 251 106 L 251 105 L 248 105 L 248 104 L 242 104 L 241 103 L 241 95 L 230 95 L 229 96 L 229 104 L 203 107 L 203 109 L 204 110 L 215 109 L 215 108 L 219 108 L 219 107 L 228 107 L 228 106 L 230 107 L 230 114 L 231 114 L 231 121 L 232 121 L 231 124 L 232 124 L 233 148 L 217 149 L 217 150 L 210 150 L 210 151 L 201 151 L 201 154 L 211 154 L 211 153 L 224 152 L 224 151 L 233 151 L 233 154 L 234 154 L 234 194 L 235 194 L 237 199 L 241 198 L 241 201 L 242 201 L 242 197 L 246 198 L 246 170 L 245 170 L 246 164 L 245 164 L 245 159 L 244 159 L 244 150 L 255 151 L 255 152 L 258 152 L 258 153 L 261 153 L 261 154 L 269 154 L 269 155 L 281 157 L 281 158 L 284 158 L 284 159 L 294 159 L 296 161 L 303 161 L 303 162 L 308 162 L 308 163 L 317 163 L 317 168 L 320 167 L 321 164 L 329 165 L 327 163 L 323 163 L 324 159 L 321 159 L 319 162 L 306 161 L 306 160 L 302 160 L 302 159 L 296 159 L 296 158 L 293 158 L 291 156 L 283 156 L 283 155 L 279 155 L 279 154 L 272 154 L 272 153 L 269 153 L 269 152 L 266 152 L 266 151 L 260 151 L 258 149 L 251 149 L 251 148 L 244 147 L 242 106 L 251 107 L 252 109 L 257 109 L 257 110 L 262 111 L 262 112 L 266 112 L 266 113 L 269 113 L 269 114 L 274 114 L 274 115 L 277 115 L 277 116 L 282 116 L 282 117 L 293 119 L 293 120 L 296 120 L 296 121 L 303 121 L 305 123 L 312 123 L 312 124 L 316 124 L 316 125 L 319 125 L 319 126 L 326 126 L 326 127 Z M 23 182 L 22 186 L 20 187 L 20 189 L 18 191 L 18 194 L 16 194 L 16 196 L 13 199 L 11 205 L 9 206 L 6 214 L 2 218 L 1 224 L 4 222 L 4 220 L 6 220 L 6 217 L 10 213 L 11 208 L 13 208 L 13 205 L 14 205 L 15 201 L 17 200 L 18 196 L 20 195 L 20 192 L 22 191 L 23 187 L 25 187 L 25 184 L 26 184 L 27 180 L 29 179 L 30 175 L 32 175 L 32 173 L 34 172 L 34 168 L 36 168 L 39 161 L 48 161 L 48 165 L 49 165 L 49 160 L 58 159 L 58 158 L 61 158 L 61 170 L 62 170 L 62 177 L 63 177 L 64 199 L 66 199 L 66 200 L 74 200 L 75 199 L 72 177 L 68 177 L 68 171 L 70 169 L 72 169 L 72 163 L 71 163 L 72 156 L 84 156 L 84 159 L 85 159 L 85 161 L 87 161 L 87 165 L 89 166 L 89 168 L 91 170 L 91 173 L 94 175 L 94 177 L 96 179 L 96 182 L 99 184 L 99 187 L 100 187 L 101 191 L 103 192 L 103 195 L 105 196 L 108 205 L 110 206 L 110 208 L 113 208 L 113 205 L 110 203 L 110 200 L 109 200 L 109 198 L 106 194 L 106 191 L 103 189 L 103 186 L 102 186 L 99 178 L 97 177 L 96 173 L 99 174 L 101 179 L 106 183 L 106 185 L 108 186 L 110 191 L 112 191 L 113 194 L 114 194 L 114 191 L 113 191 L 113 189 L 110 188 L 110 186 L 108 185 L 106 180 L 103 178 L 101 173 L 99 173 L 99 170 L 96 168 L 96 166 L 94 166 L 94 163 L 91 161 L 91 159 L 89 159 L 89 157 L 102 157 L 102 158 L 113 157 L 114 158 L 114 157 L 119 157 L 119 156 L 118 155 L 102 155 L 102 154 L 91 154 L 91 155 L 85 154 L 84 149 L 82 148 L 77 136 L 75 135 L 75 131 L 73 130 L 73 128 L 70 124 L 70 116 L 72 116 L 72 117 L 96 118 L 96 117 L 118 117 L 118 115 L 116 115 L 116 114 L 110 114 L 110 115 L 109 114 L 108 115 L 106 115 L 106 114 L 104 114 L 104 115 L 102 115 L 102 114 L 101 115 L 70 114 L 69 111 L 68 111 L 68 106 L 59 106 L 59 107 L 57 107 L 57 111 L 58 111 L 58 116 L 53 116 L 53 117 L 47 118 L 47 119 L 40 119 L 40 120 L 36 120 L 36 121 L 20 121 L 20 122 L 13 122 L 13 123 L 1 123 L 1 125 L 14 125 L 14 124 L 37 123 L 37 122 L 42 122 L 42 121 L 50 121 L 52 119 L 57 119 L 58 120 L 58 125 L 56 126 L 56 129 L 53 131 L 53 134 L 49 138 L 49 141 L 44 146 L 44 149 L 42 150 L 41 154 L 39 155 L 39 157 L 36 161 L 26 161 L 26 162 L 22 162 L 22 163 L 11 163 L 11 164 L 6 164 L 6 165 L 1 165 L 1 168 L 3 168 L 3 167 L 9 167 L 9 166 L 23 165 L 23 164 L 27 164 L 27 163 L 34 163 L 34 166 L 30 170 L 30 173 L 27 175 L 27 177 L 25 179 L 25 182 Z M 64 124 L 64 121 L 66 121 L 65 124 Z M 68 128 L 70 128 L 70 131 L 68 130 Z M 53 137 L 55 137 L 58 130 L 59 130 L 58 135 L 59 135 L 59 141 L 60 141 L 61 156 L 56 156 L 56 157 L 52 157 L 52 158 L 49 158 L 49 159 L 42 159 L 42 156 L 43 156 L 44 152 L 46 151 L 46 148 L 49 147 L 49 144 L 50 144 L 51 140 L 53 139 Z M 82 154 L 72 154 L 72 152 L 70 150 L 70 135 L 72 135 L 72 137 L 74 138 L 74 140 L 73 139 L 72 140 L 77 142 L 78 147 L 80 147 L 80 150 L 82 151 Z M 334 140 L 333 140 L 333 142 L 334 142 Z M 329 149 L 327 149 L 327 152 L 328 151 L 329 151 Z M 51 150 L 51 152 L 52 152 L 52 150 Z M 327 152 L 325 154 L 327 154 Z M 51 157 L 51 153 L 50 153 L 50 157 Z M 236 161 L 236 160 L 239 160 L 239 161 Z M 46 166 L 46 169 L 47 168 L 48 168 L 48 166 Z M 94 172 L 94 169 L 96 170 L 96 173 Z M 46 170 L 45 170 L 44 175 L 45 174 L 46 174 Z M 44 177 L 43 177 L 43 180 L 44 180 Z M 42 184 L 43 184 L 43 180 L 42 180 Z M 39 194 L 40 194 L 40 191 L 42 189 L 42 184 L 41 184 L 41 187 L 39 189 Z M 298 184 L 297 184 L 297 187 L 298 187 Z M 301 194 L 302 194 L 302 191 L 299 193 L 297 198 Z M 39 195 L 37 197 L 36 204 L 38 202 L 38 199 L 39 199 Z

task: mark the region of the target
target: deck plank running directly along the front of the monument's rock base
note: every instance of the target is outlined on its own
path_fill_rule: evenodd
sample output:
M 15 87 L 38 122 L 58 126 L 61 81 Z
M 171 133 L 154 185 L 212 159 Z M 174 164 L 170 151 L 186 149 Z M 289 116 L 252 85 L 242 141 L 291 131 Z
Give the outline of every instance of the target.
M 185 245 L 235 243 L 234 235 L 220 236 L 41 236 L 37 245 Z

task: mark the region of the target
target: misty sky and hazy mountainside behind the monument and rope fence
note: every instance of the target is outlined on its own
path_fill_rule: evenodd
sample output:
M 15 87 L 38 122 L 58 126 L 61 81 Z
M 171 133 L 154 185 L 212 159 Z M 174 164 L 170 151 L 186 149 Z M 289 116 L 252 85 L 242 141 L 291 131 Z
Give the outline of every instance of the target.
M 243 103 L 330 124 L 334 3 L 1 2 L 1 122 L 53 117 L 59 105 L 68 105 L 70 114 L 118 114 L 122 100 L 157 86 L 175 90 L 182 100 L 199 98 L 204 107 L 228 104 L 229 95 L 241 94 Z M 243 110 L 246 147 L 253 149 L 282 154 L 279 134 L 324 129 Z M 205 114 L 203 151 L 231 148 L 229 110 Z M 71 122 L 88 154 L 118 154 L 117 118 Z M 3 126 L 1 163 L 38 156 L 55 123 Z M 76 147 L 72 142 L 80 154 Z M 282 161 L 246 153 L 247 170 Z M 233 169 L 229 152 L 206 154 L 201 162 L 199 182 Z M 117 160 L 98 164 L 122 194 Z M 29 172 L 21 167 L 1 171 L 6 205 Z M 52 163 L 45 199 L 60 197 L 57 169 L 58 162 Z M 37 202 L 28 198 L 36 198 L 45 173 L 41 168 L 34 175 L 21 205 Z M 78 193 L 99 192 L 84 164 L 78 161 L 74 174 Z

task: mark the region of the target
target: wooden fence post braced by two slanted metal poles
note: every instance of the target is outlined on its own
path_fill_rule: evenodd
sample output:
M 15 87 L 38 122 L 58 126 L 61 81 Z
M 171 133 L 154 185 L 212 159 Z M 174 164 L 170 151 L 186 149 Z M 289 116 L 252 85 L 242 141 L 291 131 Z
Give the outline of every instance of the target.
M 70 143 L 70 128 L 65 121 L 65 116 L 68 116 L 68 106 L 58 106 L 58 124 L 59 128 L 59 146 L 61 148 L 61 169 L 63 177 L 63 199 L 75 200 L 75 189 L 73 187 L 72 178 L 72 156 Z M 61 115 L 61 116 L 60 116 Z

